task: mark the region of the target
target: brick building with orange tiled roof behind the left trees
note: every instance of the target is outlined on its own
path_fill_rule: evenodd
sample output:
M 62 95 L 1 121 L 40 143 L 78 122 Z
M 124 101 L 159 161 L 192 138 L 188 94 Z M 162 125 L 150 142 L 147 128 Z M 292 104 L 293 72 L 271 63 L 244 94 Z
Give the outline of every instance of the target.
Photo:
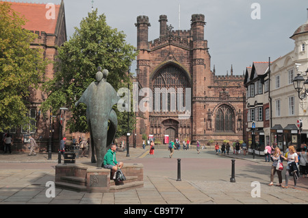
M 0 2 L 3 3 L 3 2 Z M 63 45 L 66 41 L 66 21 L 64 12 L 64 1 L 60 5 L 45 4 L 45 3 L 17 3 L 8 2 L 11 4 L 12 10 L 18 12 L 20 16 L 24 16 L 27 23 L 23 28 L 28 29 L 38 35 L 38 38 L 31 43 L 31 47 L 40 47 L 43 49 L 44 58 L 54 61 L 57 55 L 57 47 Z M 52 78 L 55 71 L 53 63 L 47 65 L 45 76 Z M 49 112 L 42 114 L 40 105 L 47 98 L 46 93 L 42 93 L 40 89 L 32 89 L 29 97 L 29 116 L 36 119 L 32 124 L 36 128 L 30 126 L 16 127 L 10 130 L 14 137 L 14 145 L 12 149 L 24 149 L 21 138 L 25 134 L 32 134 L 40 145 L 40 150 L 46 150 L 49 145 L 49 125 L 52 125 L 52 142 L 58 142 L 60 137 L 59 116 L 50 121 Z M 55 147 L 53 147 L 55 150 Z

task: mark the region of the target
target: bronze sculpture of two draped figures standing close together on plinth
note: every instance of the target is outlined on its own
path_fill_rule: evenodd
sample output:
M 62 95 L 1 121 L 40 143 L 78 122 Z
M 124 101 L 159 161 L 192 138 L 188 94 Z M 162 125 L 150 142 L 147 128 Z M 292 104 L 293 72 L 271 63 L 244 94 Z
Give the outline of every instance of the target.
M 117 104 L 120 97 L 107 80 L 108 71 L 97 72 L 97 82 L 92 82 L 75 103 L 78 106 L 84 103 L 87 106 L 86 115 L 91 136 L 92 157 L 91 162 L 96 162 L 94 153 L 97 154 L 97 167 L 102 167 L 103 158 L 114 140 L 118 119 L 112 106 Z M 108 125 L 109 123 L 109 125 Z M 94 152 L 95 148 L 95 152 Z

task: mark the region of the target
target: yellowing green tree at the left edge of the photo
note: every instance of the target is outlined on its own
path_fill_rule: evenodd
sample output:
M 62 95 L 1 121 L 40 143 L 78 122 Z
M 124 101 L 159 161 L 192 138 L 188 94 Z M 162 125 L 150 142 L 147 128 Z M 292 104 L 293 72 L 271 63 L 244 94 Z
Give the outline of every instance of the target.
M 38 88 L 47 62 L 30 43 L 36 34 L 23 29 L 26 21 L 0 3 L 0 132 L 29 123 L 27 97 Z

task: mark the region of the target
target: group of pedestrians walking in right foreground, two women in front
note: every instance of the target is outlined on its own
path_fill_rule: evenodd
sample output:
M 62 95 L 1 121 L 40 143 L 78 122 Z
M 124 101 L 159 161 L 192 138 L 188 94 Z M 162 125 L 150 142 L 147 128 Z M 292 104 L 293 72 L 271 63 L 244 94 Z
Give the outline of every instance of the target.
M 290 175 L 294 179 L 294 188 L 296 188 L 296 183 L 298 180 L 299 174 L 303 175 L 303 178 L 307 178 L 307 146 L 302 147 L 300 152 L 296 152 L 296 149 L 293 145 L 287 148 L 285 156 L 281 153 L 279 147 L 270 147 L 266 146 L 267 158 L 272 159 L 272 166 L 270 169 L 270 184 L 274 184 L 274 175 L 277 173 L 279 183 L 276 186 L 281 186 L 284 189 L 287 189 Z M 273 152 L 272 152 L 273 151 Z M 267 161 L 266 158 L 266 161 Z M 283 160 L 287 161 L 286 166 L 283 165 Z M 299 164 L 299 167 L 298 167 Z M 282 171 L 285 168 L 285 185 L 282 185 Z

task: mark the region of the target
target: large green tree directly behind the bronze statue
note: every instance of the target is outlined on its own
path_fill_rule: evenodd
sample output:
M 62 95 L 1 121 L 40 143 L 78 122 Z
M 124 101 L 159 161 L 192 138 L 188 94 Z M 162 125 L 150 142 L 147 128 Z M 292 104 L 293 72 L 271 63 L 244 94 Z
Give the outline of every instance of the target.
M 98 66 L 109 71 L 107 82 L 115 90 L 127 87 L 130 82 L 127 71 L 131 62 L 136 59 L 135 50 L 126 43 L 123 32 L 107 25 L 104 14 L 98 15 L 97 10 L 88 13 L 82 19 L 80 27 L 75 27 L 72 38 L 58 49 L 55 77 L 44 84 L 48 98 L 42 104 L 42 110 L 47 111 L 52 107 L 53 112 L 56 112 L 60 107 L 66 106 L 71 112 L 66 128 L 70 132 L 88 132 L 86 105 L 80 104 L 75 108 L 75 101 L 96 80 Z M 127 113 L 117 110 L 116 113 L 119 136 L 126 133 L 127 127 L 123 123 L 127 123 Z M 130 116 L 133 117 L 133 112 Z M 133 122 L 130 125 L 132 130 Z

